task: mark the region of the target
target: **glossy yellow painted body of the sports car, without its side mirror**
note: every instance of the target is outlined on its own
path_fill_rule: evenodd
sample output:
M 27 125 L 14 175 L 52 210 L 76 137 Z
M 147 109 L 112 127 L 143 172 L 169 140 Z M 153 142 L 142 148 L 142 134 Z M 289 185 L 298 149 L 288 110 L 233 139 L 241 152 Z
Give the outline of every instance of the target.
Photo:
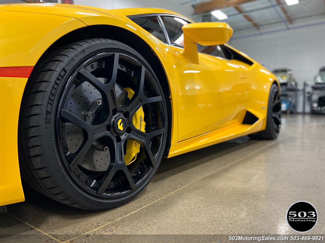
M 126 17 L 149 13 L 182 17 L 172 11 L 151 8 L 105 10 L 41 3 L 0 5 L 0 67 L 35 66 L 55 41 L 75 29 L 117 26 L 145 41 L 165 71 L 172 104 L 168 157 L 265 129 L 267 100 L 275 76 L 232 47 L 229 48 L 244 55 L 253 65 L 203 53 L 198 54 L 200 64 L 189 62 L 184 49 L 163 43 Z M 203 39 L 195 41 L 204 42 Z M 17 129 L 26 82 L 27 78 L 0 77 L 0 107 L 8 103 L 11 106 L 11 119 L 0 120 L 0 127 L 6 128 L 0 137 L 0 205 L 24 200 Z M 259 118 L 253 125 L 241 124 L 246 110 Z

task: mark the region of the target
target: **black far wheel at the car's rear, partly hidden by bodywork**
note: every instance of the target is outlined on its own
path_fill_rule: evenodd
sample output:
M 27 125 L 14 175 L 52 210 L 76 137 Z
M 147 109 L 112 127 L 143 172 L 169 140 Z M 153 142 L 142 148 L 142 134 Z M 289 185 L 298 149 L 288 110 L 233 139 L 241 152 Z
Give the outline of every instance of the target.
M 279 94 L 279 87 L 273 84 L 270 90 L 266 128 L 264 131 L 248 135 L 253 139 L 276 139 L 281 127 L 281 99 Z

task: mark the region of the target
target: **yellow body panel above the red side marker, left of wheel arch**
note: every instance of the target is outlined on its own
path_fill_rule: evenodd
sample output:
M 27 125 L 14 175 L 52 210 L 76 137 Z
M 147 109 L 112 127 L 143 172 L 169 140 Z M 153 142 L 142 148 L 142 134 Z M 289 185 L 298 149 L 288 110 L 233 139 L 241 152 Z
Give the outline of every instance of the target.
M 70 17 L 1 11 L 0 67 L 34 66 L 60 37 L 85 24 Z

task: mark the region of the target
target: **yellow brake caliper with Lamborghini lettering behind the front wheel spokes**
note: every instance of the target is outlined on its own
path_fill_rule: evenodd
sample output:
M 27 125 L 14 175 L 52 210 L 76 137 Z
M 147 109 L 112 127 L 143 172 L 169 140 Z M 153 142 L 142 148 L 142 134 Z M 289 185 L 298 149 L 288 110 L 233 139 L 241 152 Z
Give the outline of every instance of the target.
M 124 90 L 127 92 L 127 97 L 131 99 L 132 96 L 134 95 L 133 89 L 124 88 Z M 144 118 L 144 112 L 141 106 L 133 115 L 132 122 L 136 129 L 145 132 L 146 122 L 143 120 L 143 118 Z M 125 164 L 129 165 L 133 161 L 135 161 L 136 155 L 139 153 L 139 151 L 140 151 L 140 144 L 137 143 L 136 141 L 128 139 L 126 141 L 126 154 L 124 155 Z

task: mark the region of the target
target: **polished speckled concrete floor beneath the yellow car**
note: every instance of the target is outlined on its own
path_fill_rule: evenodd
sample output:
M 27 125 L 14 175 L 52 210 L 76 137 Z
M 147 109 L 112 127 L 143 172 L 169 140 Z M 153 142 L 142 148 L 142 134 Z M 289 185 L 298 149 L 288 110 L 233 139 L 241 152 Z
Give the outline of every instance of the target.
M 245 136 L 163 159 L 148 187 L 115 209 L 72 208 L 25 188 L 26 201 L 0 214 L 0 242 L 110 242 L 111 234 L 116 242 L 141 241 L 138 234 L 292 235 L 297 233 L 285 214 L 301 200 L 319 214 L 307 234 L 324 234 L 324 175 L 325 116 L 283 115 L 277 140 Z

